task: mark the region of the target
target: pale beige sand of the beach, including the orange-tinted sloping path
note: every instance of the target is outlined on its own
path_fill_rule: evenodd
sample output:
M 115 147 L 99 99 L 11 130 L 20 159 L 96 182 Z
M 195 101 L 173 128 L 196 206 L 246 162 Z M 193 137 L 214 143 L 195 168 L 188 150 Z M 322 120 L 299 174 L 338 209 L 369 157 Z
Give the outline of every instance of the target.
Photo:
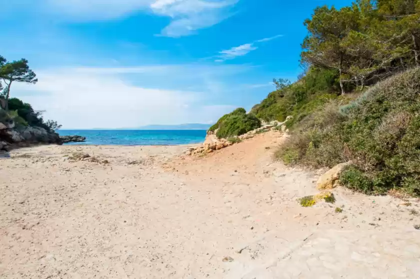
M 0 278 L 420 278 L 417 201 L 338 188 L 334 205 L 302 208 L 317 177 L 273 162 L 280 141 L 202 158 L 179 157 L 185 146 L 13 151 L 0 160 Z

